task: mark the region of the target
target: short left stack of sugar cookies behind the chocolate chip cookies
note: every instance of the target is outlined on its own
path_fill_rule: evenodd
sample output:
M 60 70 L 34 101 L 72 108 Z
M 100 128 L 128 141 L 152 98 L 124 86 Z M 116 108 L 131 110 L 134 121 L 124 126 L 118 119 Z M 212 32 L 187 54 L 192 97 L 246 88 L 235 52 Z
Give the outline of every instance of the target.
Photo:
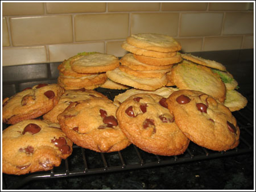
M 106 72 L 119 66 L 119 59 L 114 55 L 97 52 L 82 52 L 64 60 L 59 66 L 58 84 L 64 89 L 95 89 L 99 86 L 109 86 Z M 115 83 L 113 83 L 115 85 Z

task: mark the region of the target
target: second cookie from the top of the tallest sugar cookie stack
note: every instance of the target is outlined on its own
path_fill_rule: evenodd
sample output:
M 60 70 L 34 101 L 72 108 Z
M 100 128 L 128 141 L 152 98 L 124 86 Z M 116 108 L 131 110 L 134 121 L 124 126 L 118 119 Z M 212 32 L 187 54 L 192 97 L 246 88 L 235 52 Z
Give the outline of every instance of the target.
M 128 44 L 127 41 L 124 41 L 121 46 L 126 51 L 129 51 L 136 55 L 144 55 L 144 56 L 148 56 L 148 57 L 164 58 L 164 57 L 173 57 L 177 54 L 176 51 L 164 53 L 164 52 L 158 52 L 158 51 L 150 51 L 147 49 L 141 49 L 141 48 L 134 47 L 133 45 Z

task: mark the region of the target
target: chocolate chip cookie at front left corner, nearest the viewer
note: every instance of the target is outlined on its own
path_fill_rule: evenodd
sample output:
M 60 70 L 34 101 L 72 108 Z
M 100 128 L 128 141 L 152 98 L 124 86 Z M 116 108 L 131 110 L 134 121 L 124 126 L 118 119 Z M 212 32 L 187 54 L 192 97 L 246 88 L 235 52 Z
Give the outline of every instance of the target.
M 7 174 L 46 171 L 72 153 L 72 141 L 59 124 L 24 120 L 3 130 L 2 168 Z

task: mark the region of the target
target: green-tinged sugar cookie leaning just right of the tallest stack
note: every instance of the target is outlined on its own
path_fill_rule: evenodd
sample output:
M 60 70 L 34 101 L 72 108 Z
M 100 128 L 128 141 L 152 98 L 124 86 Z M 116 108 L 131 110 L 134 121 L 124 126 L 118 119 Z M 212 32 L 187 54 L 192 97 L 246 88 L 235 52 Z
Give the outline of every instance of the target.
M 203 65 L 184 61 L 171 70 L 171 82 L 179 89 L 197 90 L 224 102 L 226 87 L 218 74 Z

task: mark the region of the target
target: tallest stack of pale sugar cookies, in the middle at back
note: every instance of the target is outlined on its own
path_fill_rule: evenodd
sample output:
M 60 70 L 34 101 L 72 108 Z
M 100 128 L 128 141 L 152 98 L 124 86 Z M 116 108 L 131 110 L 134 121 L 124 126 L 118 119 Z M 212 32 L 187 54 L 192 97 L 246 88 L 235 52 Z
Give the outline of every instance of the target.
M 181 46 L 171 36 L 137 34 L 127 37 L 122 48 L 129 51 L 122 57 L 121 65 L 106 73 L 119 84 L 142 90 L 156 90 L 169 86 L 167 73 L 172 65 L 182 60 Z

